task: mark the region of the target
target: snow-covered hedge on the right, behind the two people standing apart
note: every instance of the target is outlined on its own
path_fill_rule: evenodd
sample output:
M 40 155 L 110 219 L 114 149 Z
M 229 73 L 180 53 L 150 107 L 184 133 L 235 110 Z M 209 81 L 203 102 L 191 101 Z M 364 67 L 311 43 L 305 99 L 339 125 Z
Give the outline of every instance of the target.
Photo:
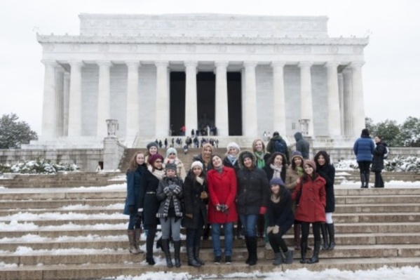
M 334 162 L 334 167 L 339 171 L 351 171 L 358 169 L 355 160 L 344 160 Z M 393 159 L 384 160 L 384 171 L 388 172 L 419 172 L 420 158 L 416 156 L 395 156 Z

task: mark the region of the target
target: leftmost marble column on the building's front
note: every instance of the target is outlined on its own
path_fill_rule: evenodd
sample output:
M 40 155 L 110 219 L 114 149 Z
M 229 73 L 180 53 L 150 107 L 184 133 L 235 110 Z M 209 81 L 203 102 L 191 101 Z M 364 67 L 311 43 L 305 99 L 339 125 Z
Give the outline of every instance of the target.
M 57 135 L 56 126 L 56 96 L 55 96 L 55 60 L 42 60 L 45 66 L 43 78 L 43 105 L 42 105 L 42 128 L 43 138 L 55 138 Z

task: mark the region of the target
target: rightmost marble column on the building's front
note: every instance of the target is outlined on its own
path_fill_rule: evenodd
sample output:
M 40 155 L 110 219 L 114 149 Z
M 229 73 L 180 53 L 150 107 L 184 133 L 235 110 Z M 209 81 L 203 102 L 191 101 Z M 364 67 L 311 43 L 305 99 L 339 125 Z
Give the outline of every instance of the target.
M 351 62 L 353 91 L 353 135 L 360 135 L 365 128 L 365 102 L 363 100 L 362 66 L 364 62 Z

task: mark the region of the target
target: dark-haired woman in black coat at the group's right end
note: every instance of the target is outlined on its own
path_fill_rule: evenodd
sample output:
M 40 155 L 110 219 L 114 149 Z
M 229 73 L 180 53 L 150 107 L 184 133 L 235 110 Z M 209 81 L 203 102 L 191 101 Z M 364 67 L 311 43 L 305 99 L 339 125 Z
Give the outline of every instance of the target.
M 327 204 L 325 206 L 326 224 L 321 224 L 321 233 L 323 234 L 323 250 L 332 250 L 335 246 L 334 222 L 332 213 L 335 211 L 334 180 L 335 168 L 330 164 L 330 156 L 325 151 L 320 151 L 315 155 L 316 173 L 325 179 L 325 194 Z M 330 240 L 328 241 L 328 237 Z

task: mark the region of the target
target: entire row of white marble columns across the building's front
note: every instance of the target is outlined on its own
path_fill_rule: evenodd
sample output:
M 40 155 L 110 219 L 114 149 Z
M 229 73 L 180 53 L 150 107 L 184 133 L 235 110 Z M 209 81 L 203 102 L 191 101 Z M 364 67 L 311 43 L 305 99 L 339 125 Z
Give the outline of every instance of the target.
M 52 60 L 45 65 L 42 136 L 55 138 L 57 135 L 81 136 L 81 68 L 82 61 L 69 61 L 70 74 Z M 97 62 L 99 84 L 97 98 L 97 136 L 107 135 L 105 120 L 110 118 L 110 61 Z M 127 118 L 126 135 L 135 137 L 138 133 L 139 104 L 138 84 L 140 61 L 127 61 Z M 156 137 L 165 137 L 170 128 L 169 104 L 169 62 L 159 61 L 156 65 Z M 215 126 L 221 136 L 229 135 L 228 93 L 226 72 L 229 62 L 216 61 Z M 286 62 L 272 62 L 273 68 L 273 131 L 286 133 L 284 67 Z M 301 119 L 309 119 L 309 135 L 313 135 L 313 101 L 311 66 L 312 62 L 299 62 L 301 88 Z M 363 84 L 361 67 L 363 63 L 353 62 L 340 74 L 337 62 L 326 62 L 327 67 L 327 110 L 329 135 L 358 135 L 365 126 Z M 197 113 L 197 61 L 184 62 L 186 72 L 185 126 L 187 131 L 198 127 Z M 257 62 L 243 62 L 243 135 L 255 137 L 257 133 L 257 83 L 255 69 Z M 64 88 L 58 102 L 56 69 L 64 73 Z M 66 92 L 66 88 L 69 91 Z M 57 117 L 57 107 L 64 108 L 62 120 Z M 62 131 L 57 131 L 59 126 Z M 345 128 L 345 129 L 344 129 Z M 63 132 L 64 131 L 64 132 Z

